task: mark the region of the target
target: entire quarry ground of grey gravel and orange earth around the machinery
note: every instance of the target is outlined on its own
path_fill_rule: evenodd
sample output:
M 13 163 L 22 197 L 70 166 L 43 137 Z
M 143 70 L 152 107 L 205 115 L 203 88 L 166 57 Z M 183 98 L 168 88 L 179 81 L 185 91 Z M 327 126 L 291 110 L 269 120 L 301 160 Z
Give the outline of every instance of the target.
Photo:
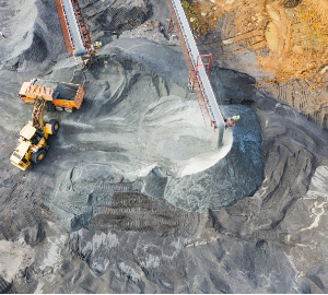
M 241 115 L 224 149 L 165 1 L 79 3 L 103 43 L 86 69 L 52 1 L 0 3 L 0 293 L 327 293 L 326 1 L 184 2 L 222 111 Z M 21 172 L 32 78 L 85 97 L 46 114 L 60 131 Z

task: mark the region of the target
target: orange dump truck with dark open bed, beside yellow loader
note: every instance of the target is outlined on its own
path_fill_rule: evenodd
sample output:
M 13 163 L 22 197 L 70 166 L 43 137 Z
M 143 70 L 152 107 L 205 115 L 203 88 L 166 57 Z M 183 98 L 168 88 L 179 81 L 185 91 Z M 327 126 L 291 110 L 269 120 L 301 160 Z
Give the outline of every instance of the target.
M 22 84 L 19 97 L 31 104 L 35 103 L 36 97 L 44 97 L 47 110 L 72 113 L 81 107 L 84 90 L 80 84 L 32 79 Z

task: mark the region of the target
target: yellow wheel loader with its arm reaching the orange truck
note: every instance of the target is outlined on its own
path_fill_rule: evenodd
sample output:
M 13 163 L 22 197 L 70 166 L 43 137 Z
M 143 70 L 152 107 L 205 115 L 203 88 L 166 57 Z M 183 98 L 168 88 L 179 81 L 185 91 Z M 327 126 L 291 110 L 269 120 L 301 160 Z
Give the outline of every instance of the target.
M 54 101 L 50 93 L 34 98 L 32 121 L 21 130 L 19 145 L 10 155 L 11 163 L 22 170 L 26 170 L 32 162 L 40 163 L 43 161 L 48 150 L 48 135 L 57 134 L 59 130 L 59 122 L 55 119 L 44 123 L 46 103 L 54 103 Z

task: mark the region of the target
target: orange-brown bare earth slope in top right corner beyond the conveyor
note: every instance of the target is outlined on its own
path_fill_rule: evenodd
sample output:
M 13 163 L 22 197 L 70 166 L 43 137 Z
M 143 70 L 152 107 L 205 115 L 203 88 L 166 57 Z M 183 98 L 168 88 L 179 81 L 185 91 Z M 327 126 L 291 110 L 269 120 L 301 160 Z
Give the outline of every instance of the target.
M 186 5 L 203 50 L 215 52 L 220 67 L 250 74 L 258 88 L 328 127 L 326 0 L 198 0 Z

